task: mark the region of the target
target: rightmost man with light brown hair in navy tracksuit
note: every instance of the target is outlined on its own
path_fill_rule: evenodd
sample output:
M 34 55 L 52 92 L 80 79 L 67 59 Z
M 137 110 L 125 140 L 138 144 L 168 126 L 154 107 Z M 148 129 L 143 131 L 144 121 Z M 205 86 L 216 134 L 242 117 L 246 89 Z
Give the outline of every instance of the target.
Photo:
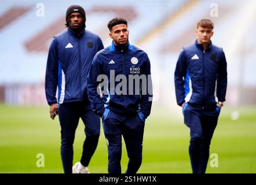
M 193 173 L 206 171 L 211 138 L 226 95 L 226 58 L 224 51 L 211 43 L 213 27 L 211 20 L 199 21 L 198 39 L 181 51 L 174 75 L 177 103 L 190 128 Z

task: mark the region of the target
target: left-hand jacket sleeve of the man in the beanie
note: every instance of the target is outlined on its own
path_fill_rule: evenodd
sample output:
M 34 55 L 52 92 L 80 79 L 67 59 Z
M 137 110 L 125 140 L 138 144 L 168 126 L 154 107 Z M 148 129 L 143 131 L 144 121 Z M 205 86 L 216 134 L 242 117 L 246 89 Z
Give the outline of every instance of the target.
M 56 39 L 53 39 L 49 48 L 45 74 L 45 94 L 49 105 L 57 103 L 58 55 L 56 48 Z

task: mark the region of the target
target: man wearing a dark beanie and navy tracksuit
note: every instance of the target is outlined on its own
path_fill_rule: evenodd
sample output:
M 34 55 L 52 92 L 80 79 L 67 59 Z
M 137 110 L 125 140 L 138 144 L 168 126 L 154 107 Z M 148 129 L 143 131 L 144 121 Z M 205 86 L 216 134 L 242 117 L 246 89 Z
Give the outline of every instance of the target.
M 96 150 L 100 135 L 100 117 L 87 98 L 86 79 L 95 54 L 103 49 L 101 39 L 85 29 L 85 10 L 72 5 L 66 13 L 67 31 L 50 44 L 46 66 L 45 92 L 50 117 L 59 115 L 61 160 L 65 173 L 89 173 L 86 166 Z M 58 87 L 58 100 L 56 88 Z M 73 143 L 79 118 L 85 124 L 86 139 L 80 162 L 72 168 Z

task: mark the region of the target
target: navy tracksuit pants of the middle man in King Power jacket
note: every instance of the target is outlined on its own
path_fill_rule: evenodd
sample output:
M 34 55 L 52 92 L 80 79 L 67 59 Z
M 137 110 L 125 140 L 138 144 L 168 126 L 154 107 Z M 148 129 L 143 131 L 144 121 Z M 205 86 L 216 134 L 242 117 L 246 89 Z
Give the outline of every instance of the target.
M 142 162 L 144 125 L 145 119 L 139 113 L 119 114 L 105 110 L 103 129 L 108 146 L 108 173 L 121 173 L 122 135 L 129 157 L 126 173 L 138 171 Z

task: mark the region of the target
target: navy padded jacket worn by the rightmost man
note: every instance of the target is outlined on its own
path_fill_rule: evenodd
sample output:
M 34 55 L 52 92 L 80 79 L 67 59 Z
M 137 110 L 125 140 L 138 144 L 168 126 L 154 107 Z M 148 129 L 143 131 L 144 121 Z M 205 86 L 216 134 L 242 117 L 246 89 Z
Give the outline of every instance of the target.
M 174 74 L 178 105 L 216 106 L 224 102 L 227 86 L 224 51 L 210 42 L 204 51 L 198 40 L 186 46 L 178 57 Z

